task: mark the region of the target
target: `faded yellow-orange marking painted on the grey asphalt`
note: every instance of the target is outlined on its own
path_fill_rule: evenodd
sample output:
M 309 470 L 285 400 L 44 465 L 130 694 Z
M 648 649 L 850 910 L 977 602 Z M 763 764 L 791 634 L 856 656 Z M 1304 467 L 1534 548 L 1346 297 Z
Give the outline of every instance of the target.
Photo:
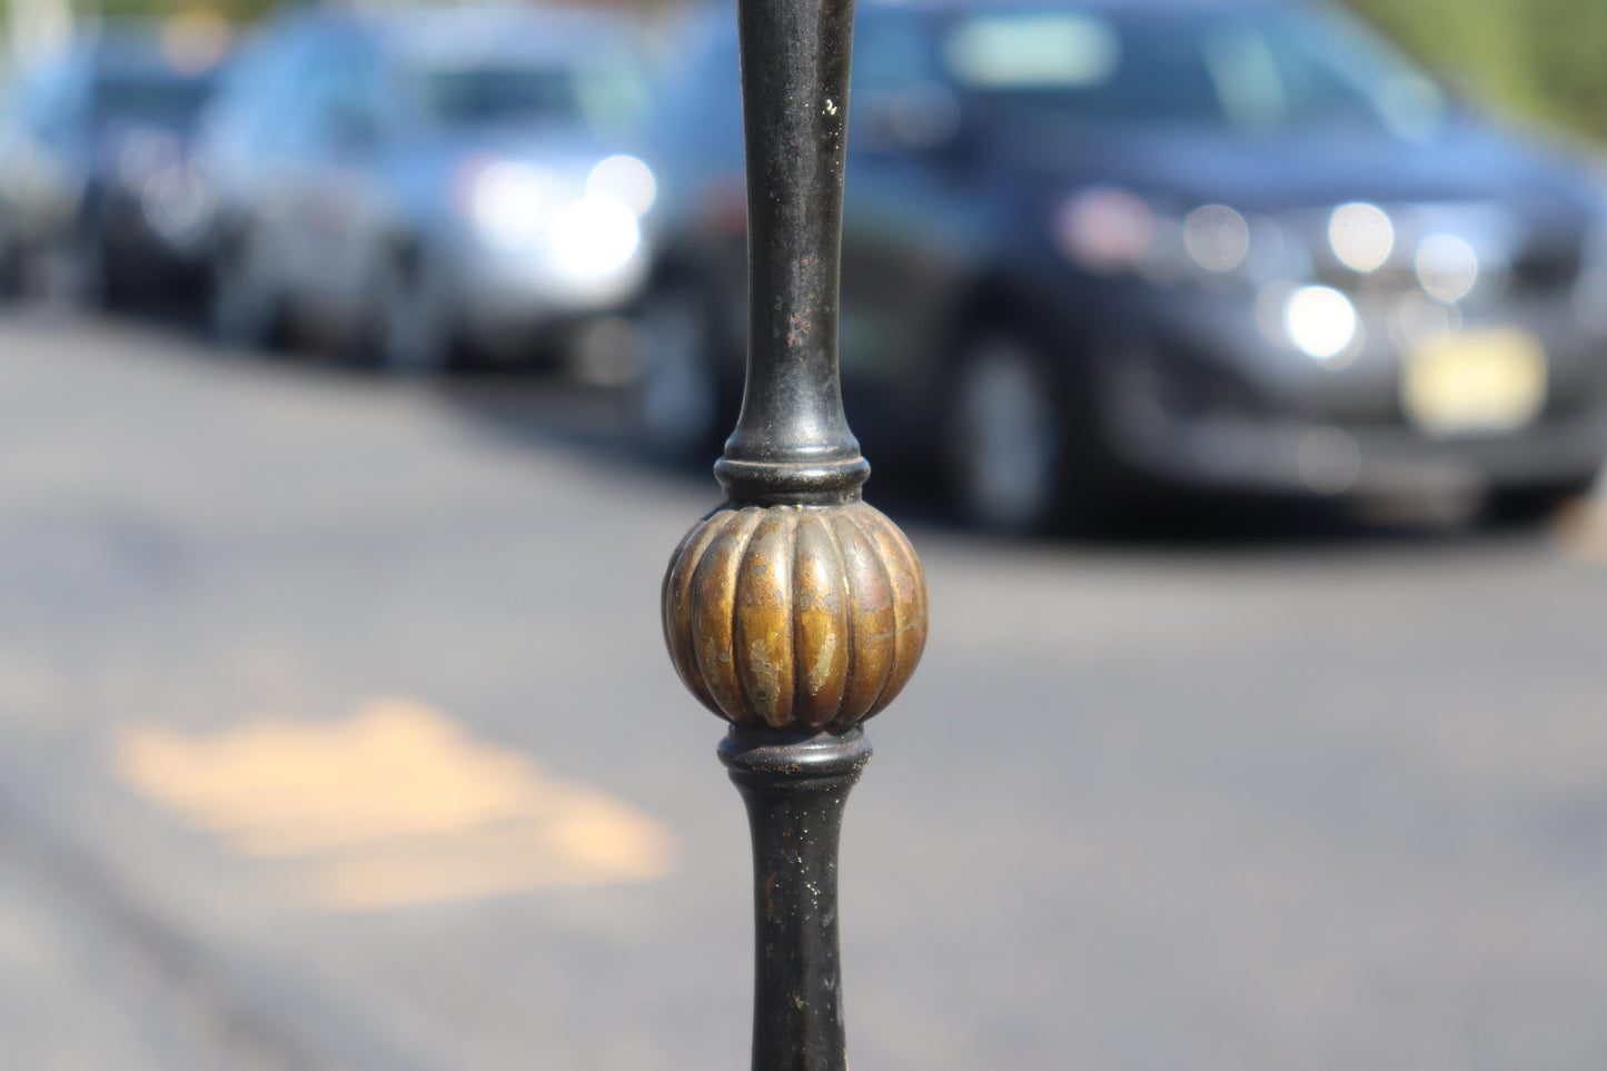
M 114 765 L 236 854 L 299 867 L 329 907 L 651 881 L 675 864 L 673 836 L 651 817 L 408 700 L 206 737 L 135 725 Z

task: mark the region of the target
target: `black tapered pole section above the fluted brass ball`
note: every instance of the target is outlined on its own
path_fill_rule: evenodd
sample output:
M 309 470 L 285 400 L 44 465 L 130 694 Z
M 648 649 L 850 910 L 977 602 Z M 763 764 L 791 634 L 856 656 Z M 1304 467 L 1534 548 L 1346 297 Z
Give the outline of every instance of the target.
M 715 474 L 734 502 L 820 502 L 869 476 L 837 380 L 853 0 L 741 0 L 747 388 Z

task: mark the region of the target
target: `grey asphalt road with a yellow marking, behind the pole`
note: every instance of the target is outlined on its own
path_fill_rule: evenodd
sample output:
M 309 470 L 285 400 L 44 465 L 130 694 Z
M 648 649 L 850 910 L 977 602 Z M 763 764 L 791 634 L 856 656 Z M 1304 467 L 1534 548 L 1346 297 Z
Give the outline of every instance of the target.
M 0 367 L 0 1068 L 746 1066 L 741 806 L 656 619 L 710 479 L 513 380 L 14 315 Z M 1594 503 L 890 511 L 932 640 L 848 809 L 857 1068 L 1602 1066 Z

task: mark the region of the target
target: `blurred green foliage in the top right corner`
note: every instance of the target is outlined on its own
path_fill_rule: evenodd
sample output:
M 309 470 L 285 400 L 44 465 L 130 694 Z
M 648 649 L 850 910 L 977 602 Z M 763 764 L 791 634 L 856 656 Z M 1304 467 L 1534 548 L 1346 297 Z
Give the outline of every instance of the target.
M 1607 142 L 1607 2 L 1348 0 L 1453 84 Z

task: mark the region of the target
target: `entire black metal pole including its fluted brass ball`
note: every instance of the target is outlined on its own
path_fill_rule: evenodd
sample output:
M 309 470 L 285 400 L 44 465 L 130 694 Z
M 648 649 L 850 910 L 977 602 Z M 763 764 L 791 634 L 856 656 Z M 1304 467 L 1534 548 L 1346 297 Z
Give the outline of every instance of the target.
M 860 499 L 837 375 L 853 0 L 739 0 L 749 352 L 726 502 L 664 577 L 681 682 L 731 722 L 720 759 L 754 849 L 754 1071 L 845 1071 L 837 838 L 871 757 L 860 722 L 926 646 L 926 579 Z

